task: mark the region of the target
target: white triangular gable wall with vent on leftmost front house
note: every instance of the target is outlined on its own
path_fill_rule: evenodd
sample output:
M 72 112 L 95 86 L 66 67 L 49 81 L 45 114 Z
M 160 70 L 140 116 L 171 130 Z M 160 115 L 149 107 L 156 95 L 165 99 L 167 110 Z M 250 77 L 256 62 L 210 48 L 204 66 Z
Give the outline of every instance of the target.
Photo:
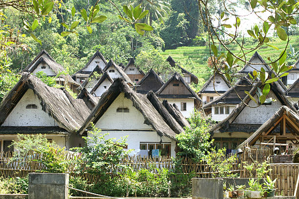
M 26 109 L 28 104 L 36 104 L 38 109 Z M 1 126 L 58 126 L 58 123 L 42 110 L 41 101 L 28 89 Z

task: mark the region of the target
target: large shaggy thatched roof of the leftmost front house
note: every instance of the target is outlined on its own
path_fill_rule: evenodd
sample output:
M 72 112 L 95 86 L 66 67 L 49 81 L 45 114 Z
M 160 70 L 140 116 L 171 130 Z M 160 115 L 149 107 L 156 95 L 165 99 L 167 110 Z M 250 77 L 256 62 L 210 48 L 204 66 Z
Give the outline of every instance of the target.
M 74 99 L 64 88 L 45 85 L 39 78 L 22 73 L 20 81 L 11 89 L 0 104 L 0 125 L 18 104 L 23 94 L 32 89 L 41 101 L 42 110 L 53 117 L 59 126 L 75 133 L 82 126 L 90 110 L 81 99 Z

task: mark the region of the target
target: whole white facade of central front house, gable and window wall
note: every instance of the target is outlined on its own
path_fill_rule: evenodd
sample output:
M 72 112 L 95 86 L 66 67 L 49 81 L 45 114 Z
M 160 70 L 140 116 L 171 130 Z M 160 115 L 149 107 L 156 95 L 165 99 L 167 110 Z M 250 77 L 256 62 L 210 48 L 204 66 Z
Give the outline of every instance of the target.
M 116 112 L 117 108 L 128 108 L 129 112 Z M 175 141 L 165 136 L 160 137 L 151 126 L 144 124 L 144 120 L 141 112 L 133 107 L 131 100 L 121 93 L 95 123 L 95 127 L 103 133 L 109 133 L 109 138 L 119 139 L 128 135 L 128 149 L 134 149 L 137 155 L 140 144 L 159 144 L 162 139 L 163 143 L 171 144 L 171 156 L 175 156 Z

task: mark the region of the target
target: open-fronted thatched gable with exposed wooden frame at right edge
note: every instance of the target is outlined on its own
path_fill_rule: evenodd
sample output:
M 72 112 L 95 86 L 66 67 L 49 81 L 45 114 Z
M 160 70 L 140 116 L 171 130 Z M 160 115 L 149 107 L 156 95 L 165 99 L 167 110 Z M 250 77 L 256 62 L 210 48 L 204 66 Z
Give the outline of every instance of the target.
M 295 145 L 299 139 L 299 114 L 287 106 L 280 107 L 271 118 L 241 143 L 238 148 L 242 148 L 245 145 L 253 146 L 263 143 L 271 145 L 271 141 L 274 141 L 274 136 L 276 137 L 276 146 L 279 146 L 279 143 Z

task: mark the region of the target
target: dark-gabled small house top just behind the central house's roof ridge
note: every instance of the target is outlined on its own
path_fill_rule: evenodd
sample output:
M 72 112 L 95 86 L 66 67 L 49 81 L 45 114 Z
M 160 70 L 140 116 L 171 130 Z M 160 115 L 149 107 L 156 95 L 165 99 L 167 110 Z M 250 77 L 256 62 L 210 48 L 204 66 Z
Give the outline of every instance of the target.
M 149 78 L 153 77 L 154 81 L 149 81 Z M 138 93 L 146 94 L 149 90 L 156 92 L 159 88 L 164 85 L 161 77 L 153 70 L 149 72 L 137 83 L 136 90 Z

